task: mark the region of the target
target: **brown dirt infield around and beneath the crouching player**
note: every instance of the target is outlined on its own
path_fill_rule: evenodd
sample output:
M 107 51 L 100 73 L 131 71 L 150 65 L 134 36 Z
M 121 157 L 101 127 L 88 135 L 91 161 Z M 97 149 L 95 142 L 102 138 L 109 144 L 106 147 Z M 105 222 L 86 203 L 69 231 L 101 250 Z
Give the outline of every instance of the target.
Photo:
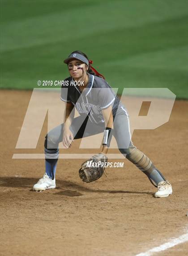
M 147 177 L 122 159 L 124 168 L 108 168 L 107 177 L 91 184 L 78 176 L 83 159 L 60 159 L 57 189 L 36 193 L 32 186 L 44 173 L 44 160 L 12 157 L 43 153 L 47 120 L 36 149 L 15 149 L 31 91 L 0 93 L 0 255 L 132 256 L 186 233 L 188 101 L 175 101 L 165 125 L 132 137 L 171 182 L 170 197 L 154 198 Z M 188 243 L 154 255 L 188 255 Z

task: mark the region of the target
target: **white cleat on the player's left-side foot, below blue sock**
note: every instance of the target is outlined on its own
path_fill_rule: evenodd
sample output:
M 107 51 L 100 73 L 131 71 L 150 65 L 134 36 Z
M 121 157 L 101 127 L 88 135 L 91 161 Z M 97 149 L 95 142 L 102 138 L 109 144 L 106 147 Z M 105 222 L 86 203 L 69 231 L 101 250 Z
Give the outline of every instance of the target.
M 34 191 L 43 191 L 46 189 L 55 189 L 56 188 L 56 179 L 51 180 L 48 175 L 45 173 L 43 178 L 38 180 L 36 184 L 33 186 Z

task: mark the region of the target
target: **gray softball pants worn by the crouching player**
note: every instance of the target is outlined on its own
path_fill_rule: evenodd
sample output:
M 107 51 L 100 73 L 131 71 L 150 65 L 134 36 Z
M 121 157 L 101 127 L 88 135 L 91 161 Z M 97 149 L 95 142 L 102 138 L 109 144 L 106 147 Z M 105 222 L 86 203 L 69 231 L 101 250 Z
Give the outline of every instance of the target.
M 52 129 L 46 136 L 45 148 L 58 148 L 63 138 L 64 124 L 61 124 Z M 70 126 L 74 139 L 81 139 L 98 133 L 102 133 L 105 129 L 105 124 L 96 124 L 90 121 L 87 115 L 75 117 Z M 131 142 L 131 135 L 129 130 L 129 121 L 127 112 L 122 108 L 118 108 L 114 117 L 113 135 L 117 141 L 118 148 L 122 154 L 128 154 L 128 148 L 134 147 Z

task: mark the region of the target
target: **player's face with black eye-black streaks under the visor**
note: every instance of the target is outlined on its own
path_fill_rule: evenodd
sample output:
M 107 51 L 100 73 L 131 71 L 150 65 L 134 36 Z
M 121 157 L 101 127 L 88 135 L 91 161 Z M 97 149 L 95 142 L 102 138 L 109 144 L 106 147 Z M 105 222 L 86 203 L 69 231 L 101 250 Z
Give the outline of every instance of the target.
M 78 59 L 73 59 L 68 63 L 68 71 L 74 79 L 80 79 L 87 72 L 87 65 Z

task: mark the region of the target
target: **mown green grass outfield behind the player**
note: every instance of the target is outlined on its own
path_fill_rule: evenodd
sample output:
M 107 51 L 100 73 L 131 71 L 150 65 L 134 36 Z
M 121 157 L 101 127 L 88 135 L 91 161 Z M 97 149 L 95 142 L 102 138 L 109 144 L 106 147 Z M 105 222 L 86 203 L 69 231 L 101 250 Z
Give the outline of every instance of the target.
M 112 87 L 165 87 L 188 98 L 187 0 L 0 1 L 0 88 L 68 77 L 85 52 Z

